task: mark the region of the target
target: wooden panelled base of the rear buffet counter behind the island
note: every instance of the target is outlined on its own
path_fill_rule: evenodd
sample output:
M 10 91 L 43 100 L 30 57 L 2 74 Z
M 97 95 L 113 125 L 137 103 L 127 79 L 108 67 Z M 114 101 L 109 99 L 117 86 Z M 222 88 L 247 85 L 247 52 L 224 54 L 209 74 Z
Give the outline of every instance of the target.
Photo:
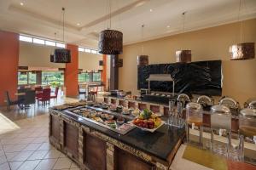
M 166 104 L 158 104 L 154 102 L 143 101 L 140 99 L 122 99 L 122 98 L 113 97 L 113 96 L 104 96 L 104 102 L 109 104 L 110 103 L 115 104 L 115 105 L 123 105 L 125 107 L 138 108 L 140 110 L 147 108 L 153 112 L 164 113 L 164 116 L 168 116 L 168 111 L 169 111 L 169 106 Z M 185 113 L 183 115 L 185 115 Z M 210 112 L 204 111 L 203 126 L 210 127 L 210 123 L 211 123 Z M 239 127 L 238 118 L 232 117 L 232 120 L 231 120 L 232 132 L 238 133 L 238 127 Z

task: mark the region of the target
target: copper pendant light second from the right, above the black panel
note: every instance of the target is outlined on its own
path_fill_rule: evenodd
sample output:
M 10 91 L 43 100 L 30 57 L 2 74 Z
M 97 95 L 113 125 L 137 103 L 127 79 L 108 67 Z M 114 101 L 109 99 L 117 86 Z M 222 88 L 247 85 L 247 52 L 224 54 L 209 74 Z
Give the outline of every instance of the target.
M 186 12 L 183 12 L 183 33 L 185 32 L 185 14 Z M 177 63 L 191 62 L 191 50 L 181 49 L 176 51 L 176 62 Z

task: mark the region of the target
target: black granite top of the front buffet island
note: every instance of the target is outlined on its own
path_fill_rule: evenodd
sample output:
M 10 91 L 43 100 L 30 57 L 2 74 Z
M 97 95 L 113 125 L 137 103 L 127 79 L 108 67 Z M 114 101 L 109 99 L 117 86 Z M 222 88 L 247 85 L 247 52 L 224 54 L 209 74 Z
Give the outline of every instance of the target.
M 79 116 L 69 114 L 65 111 L 57 111 L 67 118 L 73 119 L 86 127 L 93 128 L 101 133 L 108 135 L 113 139 L 117 139 L 124 144 L 128 144 L 137 150 L 142 150 L 151 156 L 155 156 L 163 161 L 166 161 L 177 141 L 183 139 L 185 135 L 184 128 L 170 127 L 163 125 L 154 133 L 145 132 L 140 128 L 134 128 L 131 132 L 125 135 L 115 133 L 105 127 L 96 125 L 93 122 L 79 118 Z

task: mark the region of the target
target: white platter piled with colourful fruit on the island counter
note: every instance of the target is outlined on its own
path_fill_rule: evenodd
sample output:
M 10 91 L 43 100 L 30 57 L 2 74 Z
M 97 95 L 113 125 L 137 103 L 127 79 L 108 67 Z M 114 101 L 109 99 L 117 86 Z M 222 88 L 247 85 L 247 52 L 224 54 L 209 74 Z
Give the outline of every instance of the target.
M 165 124 L 165 122 L 162 121 L 159 116 L 155 115 L 148 109 L 141 111 L 139 116 L 131 121 L 131 123 L 134 126 L 141 128 L 143 131 L 148 131 L 151 133 L 154 133 L 156 129 Z

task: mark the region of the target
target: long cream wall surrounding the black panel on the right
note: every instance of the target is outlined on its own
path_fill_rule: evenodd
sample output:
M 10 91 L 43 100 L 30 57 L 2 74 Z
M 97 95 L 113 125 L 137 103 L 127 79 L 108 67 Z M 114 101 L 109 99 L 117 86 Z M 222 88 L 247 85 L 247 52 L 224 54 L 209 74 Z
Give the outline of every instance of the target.
M 175 62 L 175 51 L 192 50 L 192 61 L 223 60 L 223 95 L 229 95 L 243 104 L 256 97 L 256 59 L 231 61 L 229 47 L 239 42 L 239 24 L 216 26 L 191 31 L 124 47 L 120 55 L 123 67 L 119 68 L 119 89 L 137 94 L 137 55 L 149 56 L 149 64 Z M 242 22 L 242 42 L 256 42 L 256 19 Z

